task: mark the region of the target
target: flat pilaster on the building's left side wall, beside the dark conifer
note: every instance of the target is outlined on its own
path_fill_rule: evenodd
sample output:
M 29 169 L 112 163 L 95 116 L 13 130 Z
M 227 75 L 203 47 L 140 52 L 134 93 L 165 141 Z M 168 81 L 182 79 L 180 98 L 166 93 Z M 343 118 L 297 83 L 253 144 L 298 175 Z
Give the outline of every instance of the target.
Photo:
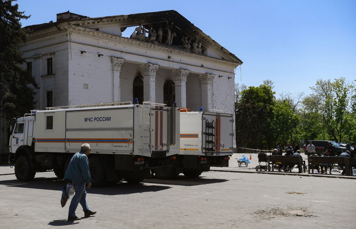
M 36 103 L 36 109 L 44 109 L 45 108 L 45 102 L 43 101 L 43 88 L 42 88 L 42 55 L 36 55 L 36 56 L 32 56 L 33 58 L 33 70 L 34 70 L 34 74 L 33 74 L 33 77 L 35 77 L 35 80 L 36 80 L 36 83 L 38 84 L 38 86 L 40 86 L 40 93 L 36 93 L 35 95 L 35 101 L 37 100 L 37 103 Z M 52 63 L 53 64 L 53 63 Z M 47 70 L 46 70 L 47 71 Z M 47 72 L 46 72 L 47 74 Z M 36 90 L 36 89 L 35 89 Z

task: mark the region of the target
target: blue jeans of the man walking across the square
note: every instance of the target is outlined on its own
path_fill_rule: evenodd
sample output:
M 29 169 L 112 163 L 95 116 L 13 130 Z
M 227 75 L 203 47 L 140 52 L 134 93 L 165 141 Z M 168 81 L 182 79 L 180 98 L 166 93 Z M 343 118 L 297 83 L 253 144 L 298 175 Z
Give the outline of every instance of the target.
M 74 192 L 72 201 L 69 205 L 68 215 L 71 217 L 75 217 L 75 210 L 78 207 L 78 204 L 82 205 L 83 211 L 90 211 L 87 204 L 87 191 L 85 191 L 85 182 L 72 181 L 74 186 Z

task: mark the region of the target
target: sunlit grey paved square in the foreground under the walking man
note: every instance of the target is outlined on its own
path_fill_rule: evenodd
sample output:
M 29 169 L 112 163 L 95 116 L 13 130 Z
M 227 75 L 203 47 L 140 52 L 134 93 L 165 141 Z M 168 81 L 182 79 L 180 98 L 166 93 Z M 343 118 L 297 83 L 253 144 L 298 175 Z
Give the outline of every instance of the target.
M 0 167 L 0 174 L 8 171 Z M 355 179 L 204 172 L 200 178 L 124 181 L 88 189 L 90 218 L 67 222 L 65 184 L 0 176 L 1 228 L 355 228 Z M 70 200 L 69 200 L 70 201 Z M 77 209 L 76 214 L 84 213 Z

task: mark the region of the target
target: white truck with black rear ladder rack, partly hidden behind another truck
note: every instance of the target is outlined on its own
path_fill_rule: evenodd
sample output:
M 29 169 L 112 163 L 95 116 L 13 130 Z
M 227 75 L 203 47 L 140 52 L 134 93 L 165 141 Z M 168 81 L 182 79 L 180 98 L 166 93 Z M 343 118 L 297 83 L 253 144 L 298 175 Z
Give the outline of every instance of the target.
M 214 167 L 228 167 L 233 153 L 232 114 L 221 110 L 187 112 L 180 109 L 180 152 L 174 155 L 171 167 L 155 168 L 161 179 L 171 179 L 179 173 L 193 178 Z

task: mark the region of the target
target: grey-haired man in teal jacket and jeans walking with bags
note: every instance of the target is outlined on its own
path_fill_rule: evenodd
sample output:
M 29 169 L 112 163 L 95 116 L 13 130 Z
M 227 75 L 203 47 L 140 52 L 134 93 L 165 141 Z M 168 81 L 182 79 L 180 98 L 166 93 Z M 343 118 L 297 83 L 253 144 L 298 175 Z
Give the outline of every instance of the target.
M 79 203 L 83 207 L 84 217 L 89 217 L 96 213 L 89 209 L 86 199 L 87 191 L 85 191 L 85 183 L 87 183 L 87 188 L 91 187 L 91 176 L 87 157 L 89 153 L 90 145 L 84 143 L 80 147 L 80 151 L 75 153 L 72 160 L 70 160 L 66 174 L 64 175 L 64 179 L 72 181 L 75 192 L 69 205 L 68 221 L 81 219 L 75 215 L 75 210 Z

